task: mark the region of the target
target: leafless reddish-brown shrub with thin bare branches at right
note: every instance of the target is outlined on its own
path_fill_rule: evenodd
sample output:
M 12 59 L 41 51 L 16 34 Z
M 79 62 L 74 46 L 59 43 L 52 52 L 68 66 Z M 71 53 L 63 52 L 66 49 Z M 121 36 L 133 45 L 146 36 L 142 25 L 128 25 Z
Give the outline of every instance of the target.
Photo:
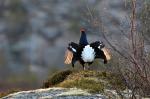
M 132 90 L 132 99 L 135 99 L 135 95 L 148 96 L 150 95 L 150 60 L 148 53 L 145 52 L 145 37 L 146 30 L 137 30 L 137 11 L 136 0 L 130 0 L 131 16 L 130 16 L 130 32 L 128 33 L 128 49 L 125 50 L 125 54 L 121 52 L 111 41 L 107 38 L 106 34 L 109 33 L 108 29 L 104 26 L 103 22 L 99 19 L 99 16 L 93 16 L 90 7 L 87 6 L 87 10 L 91 16 L 91 25 L 99 28 L 102 31 L 102 36 L 113 49 L 114 52 L 120 56 L 121 61 L 128 65 L 126 67 L 118 66 L 120 73 L 126 80 L 128 89 Z M 147 15 L 147 13 L 146 13 Z M 146 16 L 147 17 L 147 16 Z M 148 18 L 149 19 L 149 18 Z M 146 22 L 145 20 L 143 20 Z M 144 29 L 144 28 L 143 28 Z M 125 32 L 123 29 L 118 28 L 118 32 Z M 122 64 L 121 64 L 122 65 Z

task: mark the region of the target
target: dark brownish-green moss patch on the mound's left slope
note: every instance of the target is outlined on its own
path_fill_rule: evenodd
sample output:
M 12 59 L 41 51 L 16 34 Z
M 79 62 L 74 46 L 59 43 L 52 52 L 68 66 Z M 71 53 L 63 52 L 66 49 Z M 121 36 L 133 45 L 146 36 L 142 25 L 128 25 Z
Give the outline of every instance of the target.
M 67 76 L 70 75 L 71 73 L 72 73 L 71 70 L 57 72 L 52 76 L 50 76 L 50 78 L 48 78 L 48 80 L 43 83 L 43 87 L 48 88 L 50 86 L 59 84 L 60 82 L 64 81 L 67 78 Z

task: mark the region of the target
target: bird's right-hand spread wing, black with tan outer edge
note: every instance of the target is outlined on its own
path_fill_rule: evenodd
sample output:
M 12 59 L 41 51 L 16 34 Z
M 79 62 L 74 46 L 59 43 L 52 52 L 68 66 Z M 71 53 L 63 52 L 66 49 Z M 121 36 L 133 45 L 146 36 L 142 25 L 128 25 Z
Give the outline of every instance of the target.
M 91 43 L 90 46 L 94 48 L 96 54 L 95 58 L 101 58 L 104 59 L 104 63 L 106 64 L 108 60 L 111 59 L 111 56 L 109 54 L 109 51 L 107 48 L 105 48 L 105 45 L 101 41 L 96 41 L 94 43 Z

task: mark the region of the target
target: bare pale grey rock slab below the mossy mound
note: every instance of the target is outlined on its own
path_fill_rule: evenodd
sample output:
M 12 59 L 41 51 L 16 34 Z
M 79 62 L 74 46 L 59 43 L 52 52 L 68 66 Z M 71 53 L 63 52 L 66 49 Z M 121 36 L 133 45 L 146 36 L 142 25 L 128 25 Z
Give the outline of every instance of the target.
M 77 88 L 48 88 L 21 91 L 10 94 L 2 99 L 107 99 L 101 94 L 90 94 Z

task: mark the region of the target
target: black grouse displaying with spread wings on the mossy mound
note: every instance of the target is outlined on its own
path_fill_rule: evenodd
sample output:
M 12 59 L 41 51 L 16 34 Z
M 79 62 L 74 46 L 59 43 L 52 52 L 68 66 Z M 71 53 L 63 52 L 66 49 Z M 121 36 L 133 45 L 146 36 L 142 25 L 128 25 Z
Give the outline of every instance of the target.
M 88 65 L 92 64 L 96 58 L 100 58 L 104 60 L 104 64 L 110 60 L 110 54 L 108 50 L 105 48 L 105 45 L 101 41 L 96 41 L 93 43 L 88 43 L 85 29 L 81 29 L 81 37 L 79 40 L 79 44 L 74 42 L 69 43 L 66 54 L 65 54 L 65 64 L 74 64 L 79 61 L 79 63 L 85 69 L 84 64 Z

